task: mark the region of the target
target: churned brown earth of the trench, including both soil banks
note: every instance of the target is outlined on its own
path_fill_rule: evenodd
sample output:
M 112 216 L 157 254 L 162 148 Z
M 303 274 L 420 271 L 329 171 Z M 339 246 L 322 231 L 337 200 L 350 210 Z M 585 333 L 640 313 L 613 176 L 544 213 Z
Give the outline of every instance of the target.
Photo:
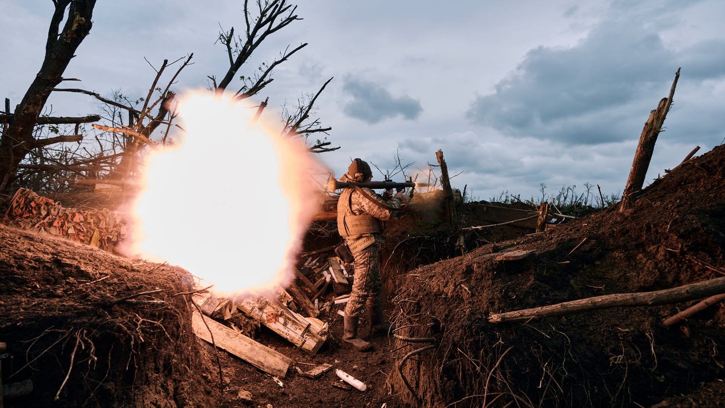
M 183 269 L 0 226 L 0 342 L 9 354 L 1 360 L 2 381 L 33 383 L 33 393 L 4 404 L 719 406 L 725 400 L 721 305 L 674 327 L 662 320 L 693 301 L 524 322 L 487 317 L 724 276 L 724 168 L 725 148 L 717 147 L 655 181 L 631 210 L 614 206 L 541 234 L 510 226 L 451 231 L 434 213 L 389 223 L 381 248 L 386 312 L 398 335 L 431 343 L 373 338 L 375 351 L 359 353 L 341 346 L 334 311 L 320 316 L 331 332 L 314 356 L 265 327 L 254 332 L 302 370 L 334 364 L 363 380 L 365 392 L 337 388 L 334 372 L 312 380 L 294 368 L 279 385 L 197 340 L 186 294 L 191 279 Z M 463 227 L 486 224 L 481 207 L 459 207 Z M 311 234 L 305 249 L 337 240 L 325 231 L 331 230 Z M 459 239 L 465 250 L 455 245 Z M 534 252 L 495 260 L 515 249 Z

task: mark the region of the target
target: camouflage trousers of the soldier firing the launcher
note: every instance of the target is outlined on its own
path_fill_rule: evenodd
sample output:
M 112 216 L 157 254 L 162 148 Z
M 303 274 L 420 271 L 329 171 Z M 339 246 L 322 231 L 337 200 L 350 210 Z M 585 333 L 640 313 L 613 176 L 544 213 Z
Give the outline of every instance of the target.
M 378 304 L 382 305 L 378 245 L 370 245 L 352 256 L 355 257 L 355 280 L 352 282 L 352 292 L 345 306 L 345 314 L 357 317 L 365 305 L 368 310 L 373 310 Z

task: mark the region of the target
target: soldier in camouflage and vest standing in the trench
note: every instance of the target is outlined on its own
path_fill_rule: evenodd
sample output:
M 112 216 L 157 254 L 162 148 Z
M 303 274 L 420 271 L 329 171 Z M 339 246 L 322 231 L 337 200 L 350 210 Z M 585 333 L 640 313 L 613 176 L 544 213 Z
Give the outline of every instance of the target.
M 340 181 L 370 181 L 373 172 L 368 163 L 355 159 Z M 380 298 L 381 280 L 378 269 L 378 245 L 383 242 L 381 222 L 391 219 L 400 208 L 400 199 L 388 190 L 381 197 L 373 190 L 361 187 L 344 189 L 337 202 L 337 231 L 344 238 L 355 258 L 355 280 L 345 306 L 342 340 L 357 350 L 369 351 L 370 343 L 357 337 L 357 324 L 363 306 L 368 308 L 370 334 L 384 334 L 390 324 L 383 317 Z

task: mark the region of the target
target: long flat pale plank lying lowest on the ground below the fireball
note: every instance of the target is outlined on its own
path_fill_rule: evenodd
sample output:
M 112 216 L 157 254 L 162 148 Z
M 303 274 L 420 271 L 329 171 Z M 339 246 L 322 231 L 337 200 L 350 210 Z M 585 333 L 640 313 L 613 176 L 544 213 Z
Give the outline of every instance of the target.
M 209 327 L 208 329 L 207 326 Z M 257 343 L 246 335 L 239 334 L 213 319 L 204 319 L 197 311 L 194 311 L 194 314 L 191 316 L 191 327 L 194 329 L 194 334 L 199 338 L 212 343 L 213 334 L 213 343 L 217 347 L 223 348 L 271 375 L 284 378 L 287 370 L 289 370 L 289 366 L 292 364 L 292 359 L 288 356 Z

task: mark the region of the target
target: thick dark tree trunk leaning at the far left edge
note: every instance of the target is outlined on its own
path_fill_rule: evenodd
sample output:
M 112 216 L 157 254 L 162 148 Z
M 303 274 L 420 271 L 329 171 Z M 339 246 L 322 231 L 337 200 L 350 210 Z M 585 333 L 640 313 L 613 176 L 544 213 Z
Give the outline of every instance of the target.
M 0 191 L 4 190 L 14 177 L 17 166 L 36 147 L 59 142 L 77 140 L 76 137 L 57 136 L 36 139 L 33 129 L 38 123 L 51 91 L 62 81 L 75 50 L 91 30 L 91 17 L 95 0 L 53 0 L 55 10 L 48 30 L 46 52 L 36 78 L 30 84 L 25 96 L 14 112 L 7 112 L 7 127 L 0 140 Z M 68 11 L 67 17 L 65 15 Z M 60 25 L 65 19 L 65 25 Z M 88 123 L 98 121 L 99 116 L 86 118 L 54 118 L 49 123 Z M 75 135 L 74 135 L 75 136 Z

